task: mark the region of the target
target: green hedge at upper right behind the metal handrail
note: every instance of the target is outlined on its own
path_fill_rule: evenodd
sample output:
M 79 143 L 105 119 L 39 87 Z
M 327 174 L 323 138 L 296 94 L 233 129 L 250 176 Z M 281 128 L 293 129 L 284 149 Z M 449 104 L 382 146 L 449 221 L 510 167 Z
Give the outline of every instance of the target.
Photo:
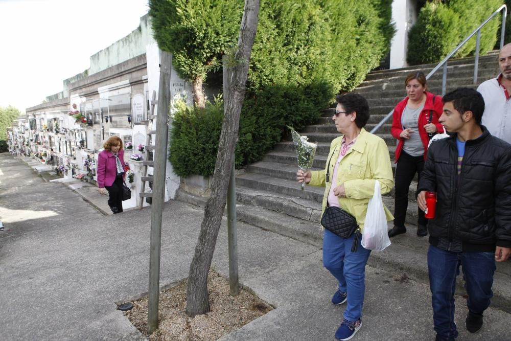
M 408 62 L 415 65 L 442 60 L 500 5 L 500 0 L 428 2 L 408 34 Z M 481 30 L 479 53 L 484 54 L 493 49 L 499 27 L 497 16 Z M 475 46 L 476 36 L 454 57 L 474 55 Z

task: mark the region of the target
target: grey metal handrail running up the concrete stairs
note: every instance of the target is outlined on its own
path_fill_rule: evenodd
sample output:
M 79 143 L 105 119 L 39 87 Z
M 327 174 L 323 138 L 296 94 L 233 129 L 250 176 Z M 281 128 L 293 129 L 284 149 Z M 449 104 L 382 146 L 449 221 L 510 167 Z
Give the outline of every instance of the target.
M 495 17 L 497 14 L 499 14 L 499 12 L 501 12 L 502 10 L 503 11 L 503 14 L 502 14 L 502 28 L 500 30 L 500 49 L 502 49 L 502 47 L 504 46 L 504 33 L 505 33 L 505 30 L 506 30 L 506 15 L 507 15 L 507 6 L 506 5 L 502 5 L 500 6 L 495 12 L 493 12 L 492 15 L 490 15 L 486 20 L 483 21 L 483 23 L 481 25 L 479 25 L 478 28 L 476 28 L 469 36 L 467 36 L 467 38 L 463 39 L 462 42 L 459 43 L 459 45 L 454 49 L 452 50 L 441 62 L 438 63 L 438 65 L 436 65 L 434 67 L 433 70 L 431 70 L 431 72 L 426 76 L 426 80 L 428 80 L 431 76 L 433 76 L 433 74 L 438 70 L 440 69 L 440 67 L 443 67 L 443 74 L 442 74 L 442 96 L 445 95 L 446 93 L 446 84 L 447 84 L 447 61 L 449 60 L 449 58 L 451 58 L 470 38 L 472 38 L 474 36 L 474 34 L 477 33 L 477 41 L 476 41 L 476 55 L 475 55 L 475 60 L 474 60 L 474 84 L 477 82 L 477 72 L 478 72 L 478 66 L 479 66 L 479 43 L 480 43 L 480 40 L 481 40 L 481 28 L 486 25 L 486 23 L 488 21 L 490 21 L 491 19 L 493 19 L 493 17 Z M 380 129 L 384 124 L 385 122 L 387 122 L 387 120 L 389 118 L 392 117 L 392 114 L 394 112 L 394 109 L 390 110 L 390 112 L 387 114 L 387 116 L 385 116 L 381 121 L 380 123 L 378 123 L 373 129 L 371 129 L 371 133 L 375 133 L 378 129 Z

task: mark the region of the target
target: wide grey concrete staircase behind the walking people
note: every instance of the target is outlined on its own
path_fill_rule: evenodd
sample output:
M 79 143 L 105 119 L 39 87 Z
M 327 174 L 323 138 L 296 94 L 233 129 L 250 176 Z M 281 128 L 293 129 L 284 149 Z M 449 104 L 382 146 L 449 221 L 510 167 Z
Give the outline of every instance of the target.
M 478 83 L 498 74 L 495 53 L 480 58 Z M 367 75 L 355 92 L 369 102 L 371 117 L 366 130 L 371 130 L 405 95 L 404 79 L 410 72 L 429 73 L 435 65 L 421 65 L 399 70 L 377 71 Z M 460 86 L 476 87 L 472 83 L 473 58 L 453 60 L 448 66 L 447 91 Z M 442 92 L 442 72 L 428 81 L 428 88 L 435 94 Z M 325 167 L 330 142 L 338 136 L 332 121 L 333 109 L 326 110 L 314 125 L 306 127 L 301 134 L 309 141 L 317 142 L 312 170 Z M 389 147 L 393 163 L 396 140 L 390 135 L 390 121 L 377 133 Z M 238 219 L 260 226 L 306 243 L 321 246 L 322 232 L 319 224 L 321 199 L 324 188 L 306 186 L 301 190 L 295 180 L 296 154 L 292 141 L 282 141 L 267 153 L 263 160 L 249 165 L 236 178 Z M 429 283 L 427 276 L 427 238 L 416 236 L 417 206 L 414 198 L 416 182 L 409 190 L 407 213 L 408 233 L 392 238 L 392 245 L 383 252 L 373 252 L 371 265 L 391 271 L 402 271 L 404 278 Z M 177 199 L 203 206 L 205 198 L 194 196 L 180 189 Z M 393 211 L 393 191 L 384 197 L 386 206 Z M 389 227 L 392 222 L 389 223 Z M 458 279 L 458 291 L 463 292 L 462 280 Z M 511 262 L 499 263 L 494 284 L 493 306 L 511 312 Z

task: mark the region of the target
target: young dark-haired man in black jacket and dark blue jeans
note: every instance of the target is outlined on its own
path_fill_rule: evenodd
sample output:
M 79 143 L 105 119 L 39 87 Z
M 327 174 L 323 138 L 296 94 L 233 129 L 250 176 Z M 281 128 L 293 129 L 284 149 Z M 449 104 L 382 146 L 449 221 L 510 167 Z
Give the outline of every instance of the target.
M 495 262 L 511 253 L 511 145 L 481 125 L 484 100 L 476 90 L 459 88 L 442 101 L 439 122 L 452 135 L 431 144 L 417 204 L 426 210 L 426 191 L 436 192 L 428 223 L 433 323 L 436 340 L 454 340 L 459 265 L 469 296 L 465 326 L 475 333 L 493 295 Z

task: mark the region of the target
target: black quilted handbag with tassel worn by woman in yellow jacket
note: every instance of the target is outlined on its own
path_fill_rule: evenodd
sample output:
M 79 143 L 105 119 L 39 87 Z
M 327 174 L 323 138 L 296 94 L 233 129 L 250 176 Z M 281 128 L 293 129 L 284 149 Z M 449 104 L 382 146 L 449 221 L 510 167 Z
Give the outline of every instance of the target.
M 321 216 L 321 225 L 323 228 L 341 238 L 350 238 L 356 231 L 352 252 L 357 251 L 360 230 L 358 228 L 357 219 L 350 213 L 339 207 L 329 206 L 324 210 Z

